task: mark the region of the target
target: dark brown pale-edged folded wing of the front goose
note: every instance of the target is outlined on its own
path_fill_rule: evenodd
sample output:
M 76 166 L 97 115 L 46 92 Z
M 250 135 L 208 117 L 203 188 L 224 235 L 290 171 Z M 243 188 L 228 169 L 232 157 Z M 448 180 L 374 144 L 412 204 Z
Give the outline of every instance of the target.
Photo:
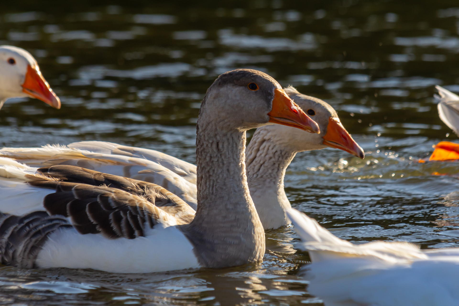
M 194 217 L 188 204 L 156 184 L 67 165 L 38 172 L 29 184 L 56 189 L 45 197 L 45 209 L 70 217 L 81 234 L 134 239 L 158 222 L 186 224 Z

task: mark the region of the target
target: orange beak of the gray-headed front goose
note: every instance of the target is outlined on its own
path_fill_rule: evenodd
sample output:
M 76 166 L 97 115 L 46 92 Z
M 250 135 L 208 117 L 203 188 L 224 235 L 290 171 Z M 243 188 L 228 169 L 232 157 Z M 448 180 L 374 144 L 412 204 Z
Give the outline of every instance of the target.
M 269 122 L 320 134 L 319 125 L 309 118 L 283 89 L 274 89 L 273 108 L 268 116 Z

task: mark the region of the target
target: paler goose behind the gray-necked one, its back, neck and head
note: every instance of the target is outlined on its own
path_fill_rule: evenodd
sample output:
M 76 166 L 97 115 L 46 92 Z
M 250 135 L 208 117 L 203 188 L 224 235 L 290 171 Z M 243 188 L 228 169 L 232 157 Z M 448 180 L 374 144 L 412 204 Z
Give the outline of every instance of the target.
M 275 124 L 257 128 L 253 134 L 246 148 L 247 182 L 264 229 L 290 223 L 284 212 L 291 207 L 285 195 L 284 176 L 297 152 L 334 147 L 364 158 L 364 151 L 342 126 L 333 107 L 323 100 L 302 95 L 293 87 L 284 91 L 314 118 L 322 132 L 307 133 Z M 159 184 L 196 210 L 196 166 L 156 150 L 83 141 L 67 146 L 3 148 L 0 156 L 34 167 L 67 164 Z M 17 167 L 23 167 L 28 173 L 36 170 L 19 164 Z M 18 208 L 15 202 L 12 205 Z

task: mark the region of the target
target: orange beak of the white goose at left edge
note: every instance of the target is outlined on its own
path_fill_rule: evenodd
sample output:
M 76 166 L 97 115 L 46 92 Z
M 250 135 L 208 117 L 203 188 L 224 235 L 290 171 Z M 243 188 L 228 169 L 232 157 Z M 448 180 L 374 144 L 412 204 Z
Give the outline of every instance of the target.
M 24 83 L 22 84 L 22 91 L 38 100 L 42 100 L 54 108 L 61 108 L 61 100 L 59 100 L 57 95 L 50 88 L 50 84 L 43 78 L 38 67 L 34 69 L 30 65 L 27 66 L 27 73 Z

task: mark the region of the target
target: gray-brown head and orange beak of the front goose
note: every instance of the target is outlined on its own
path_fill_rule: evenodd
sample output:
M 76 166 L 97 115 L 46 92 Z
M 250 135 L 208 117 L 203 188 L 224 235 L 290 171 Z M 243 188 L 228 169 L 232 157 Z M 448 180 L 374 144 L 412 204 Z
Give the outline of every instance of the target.
M 236 69 L 220 75 L 207 89 L 199 114 L 198 127 L 217 120 L 218 128 L 223 130 L 246 131 L 277 123 L 320 133 L 317 123 L 274 78 L 252 69 Z

